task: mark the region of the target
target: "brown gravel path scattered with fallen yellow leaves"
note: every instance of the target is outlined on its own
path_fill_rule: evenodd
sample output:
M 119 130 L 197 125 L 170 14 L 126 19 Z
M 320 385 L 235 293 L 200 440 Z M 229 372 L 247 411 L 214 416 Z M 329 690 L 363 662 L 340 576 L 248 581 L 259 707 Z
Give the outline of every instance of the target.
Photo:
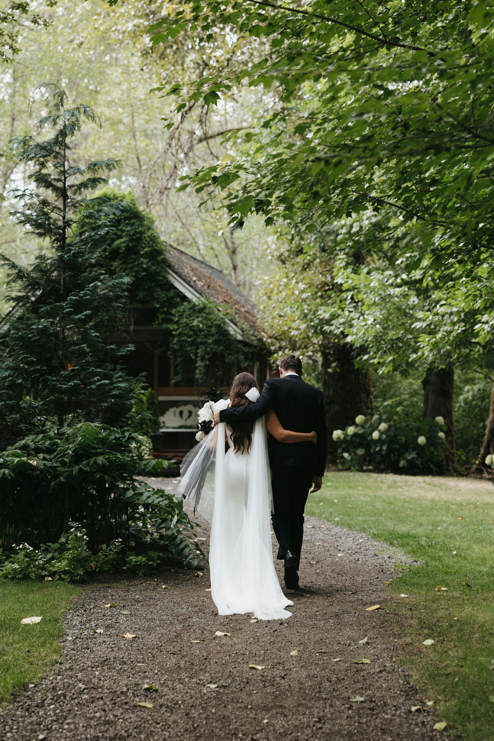
M 16 698 L 0 717 L 0 739 L 445 740 L 433 730 L 437 719 L 410 711 L 424 698 L 395 663 L 400 639 L 382 582 L 396 572 L 379 550 L 367 536 L 307 517 L 305 591 L 288 593 L 295 606 L 284 622 L 218 617 L 207 570 L 198 577 L 170 567 L 85 587 L 67 614 L 64 663 Z M 281 562 L 276 568 L 282 579 Z M 110 602 L 116 608 L 103 607 Z M 381 609 L 365 610 L 375 604 Z M 121 637 L 127 632 L 136 638 Z M 351 702 L 357 695 L 364 700 Z

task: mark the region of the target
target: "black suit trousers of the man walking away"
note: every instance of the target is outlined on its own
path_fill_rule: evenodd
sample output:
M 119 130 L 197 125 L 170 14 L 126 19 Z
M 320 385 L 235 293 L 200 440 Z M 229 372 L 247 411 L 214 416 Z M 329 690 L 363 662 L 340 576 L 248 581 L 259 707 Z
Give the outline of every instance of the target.
M 310 468 L 287 465 L 273 468 L 273 530 L 280 545 L 278 558 L 288 549 L 300 564 L 304 537 L 304 508 L 307 502 L 313 471 Z

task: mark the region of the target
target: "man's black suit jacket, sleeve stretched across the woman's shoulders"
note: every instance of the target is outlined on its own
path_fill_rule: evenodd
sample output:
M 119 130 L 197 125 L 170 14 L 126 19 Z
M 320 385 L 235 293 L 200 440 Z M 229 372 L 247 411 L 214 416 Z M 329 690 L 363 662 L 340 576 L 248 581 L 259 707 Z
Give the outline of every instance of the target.
M 270 409 L 276 411 L 285 430 L 317 432 L 317 445 L 313 442 L 279 442 L 268 435 L 270 465 L 302 466 L 310 468 L 318 476 L 324 476 L 327 459 L 324 393 L 310 386 L 300 376 L 268 378 L 255 404 L 224 409 L 219 413 L 219 419 L 220 422 L 248 422 L 258 419 Z

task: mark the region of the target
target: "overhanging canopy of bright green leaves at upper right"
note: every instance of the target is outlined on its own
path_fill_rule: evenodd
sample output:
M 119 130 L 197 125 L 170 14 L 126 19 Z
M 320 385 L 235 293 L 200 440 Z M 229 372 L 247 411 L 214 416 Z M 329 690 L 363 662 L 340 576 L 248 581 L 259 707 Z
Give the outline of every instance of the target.
M 244 157 L 204 167 L 194 185 L 226 190 L 237 226 L 256 212 L 311 232 L 391 206 L 422 250 L 490 249 L 493 13 L 489 0 L 182 3 L 153 26 L 155 44 L 197 29 L 203 43 L 249 34 L 270 50 L 192 89 L 169 86 L 176 113 L 241 84 L 281 97 L 244 137 Z

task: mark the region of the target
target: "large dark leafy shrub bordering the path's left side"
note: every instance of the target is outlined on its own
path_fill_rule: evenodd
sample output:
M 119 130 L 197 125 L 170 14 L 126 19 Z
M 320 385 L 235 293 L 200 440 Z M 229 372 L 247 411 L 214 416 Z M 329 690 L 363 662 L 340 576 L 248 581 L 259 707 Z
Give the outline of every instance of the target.
M 115 556 L 112 542 L 132 539 L 146 547 L 156 543 L 195 568 L 201 549 L 183 500 L 135 478 L 167 463 L 136 459 L 136 444 L 138 435 L 130 430 L 83 422 L 49 428 L 0 453 L 3 545 L 47 543 L 47 559 L 52 554 L 51 559 L 61 560 L 59 573 L 75 579 L 86 568 L 84 548 L 79 536 L 64 534 L 78 522 L 90 549 L 101 554 L 101 564 Z M 103 545 L 106 551 L 99 550 Z

